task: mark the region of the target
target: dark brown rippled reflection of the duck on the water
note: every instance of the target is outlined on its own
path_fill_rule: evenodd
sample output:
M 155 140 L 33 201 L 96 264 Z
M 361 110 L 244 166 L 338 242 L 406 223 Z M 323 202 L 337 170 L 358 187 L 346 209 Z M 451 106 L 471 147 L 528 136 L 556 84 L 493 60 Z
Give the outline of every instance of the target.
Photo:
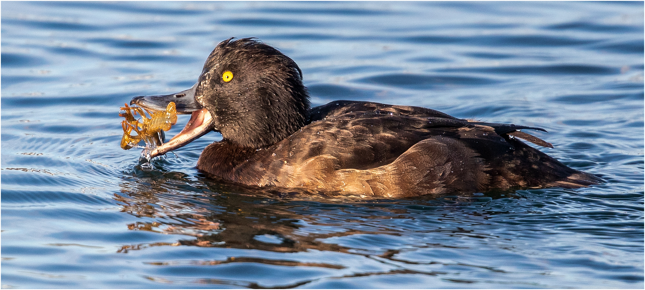
M 380 224 L 384 220 L 405 221 L 405 215 L 410 212 L 406 208 L 428 210 L 446 208 L 448 204 L 457 207 L 462 202 L 490 201 L 491 197 L 444 197 L 440 200 L 375 200 L 362 207 L 348 204 L 350 200 L 339 200 L 329 203 L 324 196 L 312 197 L 296 192 L 279 193 L 277 191 L 261 191 L 248 188 L 237 188 L 233 184 L 203 184 L 184 178 L 177 172 L 164 173 L 163 177 L 126 179 L 120 184 L 121 193 L 115 194 L 122 206 L 122 211 L 136 217 L 149 218 L 146 222 L 128 224 L 128 229 L 134 231 L 155 231 L 157 233 L 182 234 L 191 236 L 190 239 L 180 239 L 177 242 L 154 242 L 146 244 L 124 245 L 117 253 L 128 253 L 133 250 L 157 246 L 198 246 L 224 247 L 237 249 L 257 249 L 278 253 L 310 253 L 316 251 L 333 251 L 347 255 L 359 255 L 376 263 L 393 262 L 402 266 L 395 269 L 370 271 L 340 275 L 337 278 L 349 278 L 372 275 L 459 275 L 461 272 L 419 271 L 405 267 L 406 265 L 441 264 L 444 267 L 461 266 L 466 269 L 475 268 L 482 271 L 504 273 L 504 271 L 486 265 L 470 265 L 461 262 L 418 262 L 397 258 L 404 249 L 387 249 L 377 246 L 379 240 L 385 241 L 386 236 L 397 240 L 406 235 L 405 229 L 397 228 L 398 222 L 390 222 L 390 226 Z M 187 191 L 190 187 L 192 194 L 183 195 L 176 192 L 181 188 Z M 513 195 L 513 191 L 506 191 Z M 285 200 L 284 195 L 289 195 Z M 494 194 L 494 193 L 493 193 Z M 501 194 L 504 195 L 504 194 Z M 515 196 L 515 195 L 514 195 Z M 355 201 L 355 200 L 351 200 Z M 325 214 L 332 211 L 333 215 Z M 340 211 L 340 212 L 336 212 Z M 476 215 L 481 213 L 476 213 Z M 494 212 L 483 213 L 490 218 Z M 450 219 L 449 217 L 446 217 Z M 456 221 L 455 221 L 456 222 Z M 499 238 L 486 233 L 477 233 L 463 227 L 421 229 L 416 233 L 440 233 L 448 237 Z M 335 243 L 335 238 L 350 237 L 353 242 Z M 330 240 L 331 242 L 326 242 Z M 411 240 L 412 242 L 412 240 Z M 376 244 L 375 244 L 376 243 Z M 371 246 L 370 246 L 371 244 Z M 432 244 L 415 245 L 412 247 L 446 247 L 460 249 L 459 245 L 442 244 L 437 241 Z M 259 258 L 257 256 L 227 256 L 220 260 L 157 260 L 146 262 L 155 266 L 199 267 L 232 263 L 260 263 L 273 266 L 288 267 L 324 267 L 329 269 L 346 269 L 337 262 L 301 262 L 283 258 Z M 328 278 L 334 278 L 328 277 Z M 164 278 L 168 282 L 168 278 Z M 236 285 L 251 288 L 291 288 L 309 284 L 317 279 L 297 279 L 292 284 L 259 285 L 255 282 L 243 282 L 228 279 L 200 279 L 197 283 Z M 456 282 L 466 280 L 448 279 Z

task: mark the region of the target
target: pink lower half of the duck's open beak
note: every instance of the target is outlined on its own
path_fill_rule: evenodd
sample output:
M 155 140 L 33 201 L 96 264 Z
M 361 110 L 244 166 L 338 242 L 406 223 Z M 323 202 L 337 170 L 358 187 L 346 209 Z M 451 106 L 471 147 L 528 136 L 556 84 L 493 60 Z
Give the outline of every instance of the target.
M 199 137 L 202 137 L 204 134 L 212 130 L 212 122 L 213 117 L 210 115 L 208 110 L 202 109 L 199 111 L 194 111 L 190 115 L 190 120 L 184 127 L 184 130 L 181 130 L 179 134 L 175 135 L 175 137 L 172 137 L 170 141 L 152 150 L 150 152 L 150 157 L 152 158 L 155 156 L 164 155 L 170 151 L 183 147 L 184 145 L 192 142 Z

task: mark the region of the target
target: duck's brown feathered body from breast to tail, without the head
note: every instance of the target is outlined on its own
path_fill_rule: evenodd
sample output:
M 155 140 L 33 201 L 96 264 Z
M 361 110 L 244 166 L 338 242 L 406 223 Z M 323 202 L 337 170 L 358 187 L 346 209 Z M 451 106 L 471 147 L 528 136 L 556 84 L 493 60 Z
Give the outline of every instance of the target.
M 550 146 L 521 129 L 541 130 L 414 106 L 335 101 L 312 108 L 310 124 L 269 148 L 238 152 L 227 142 L 212 144 L 204 160 L 226 153 L 230 161 L 201 158 L 198 168 L 244 184 L 384 197 L 600 182 L 515 139 Z

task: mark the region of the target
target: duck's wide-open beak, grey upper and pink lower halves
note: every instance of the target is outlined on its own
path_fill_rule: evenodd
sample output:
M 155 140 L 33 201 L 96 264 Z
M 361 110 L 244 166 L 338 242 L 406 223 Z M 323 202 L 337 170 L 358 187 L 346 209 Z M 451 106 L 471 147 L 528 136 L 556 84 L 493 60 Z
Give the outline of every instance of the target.
M 136 104 L 141 108 L 150 111 L 165 111 L 170 102 L 175 102 L 177 114 L 190 114 L 190 121 L 179 134 L 172 137 L 170 141 L 157 146 L 150 151 L 150 157 L 164 155 L 170 151 L 181 148 L 193 140 L 202 137 L 213 130 L 213 117 L 206 108 L 202 108 L 199 102 L 195 101 L 195 89 L 192 88 L 170 95 L 140 95 L 132 98 L 131 105 Z

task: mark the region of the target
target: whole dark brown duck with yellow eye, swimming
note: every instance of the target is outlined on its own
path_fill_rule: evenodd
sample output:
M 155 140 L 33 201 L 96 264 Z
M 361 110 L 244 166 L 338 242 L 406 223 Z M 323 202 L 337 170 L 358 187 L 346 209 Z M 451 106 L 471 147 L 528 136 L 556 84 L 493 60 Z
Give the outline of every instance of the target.
M 175 102 L 191 115 L 150 157 L 216 131 L 222 139 L 204 148 L 197 170 L 260 188 L 406 198 L 603 182 L 519 140 L 553 148 L 521 131 L 542 128 L 368 101 L 310 108 L 295 61 L 255 37 L 234 39 L 217 44 L 192 88 L 132 99 L 152 111 Z

